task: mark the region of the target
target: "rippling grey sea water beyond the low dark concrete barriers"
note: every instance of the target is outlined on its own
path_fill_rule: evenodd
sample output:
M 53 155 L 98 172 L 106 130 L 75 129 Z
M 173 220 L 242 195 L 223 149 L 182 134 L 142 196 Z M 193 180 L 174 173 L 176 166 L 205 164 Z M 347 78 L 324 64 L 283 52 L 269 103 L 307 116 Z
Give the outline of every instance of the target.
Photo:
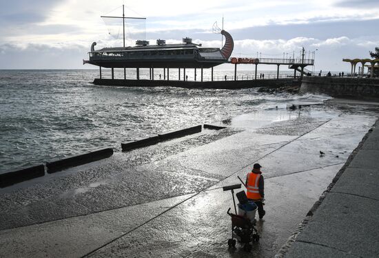
M 163 70 L 154 70 L 156 79 L 159 75 L 163 79 Z M 215 78 L 225 75 L 234 71 L 215 70 Z M 135 70 L 127 70 L 127 78 L 134 76 Z M 148 76 L 143 70 L 141 78 Z M 238 72 L 243 76 L 252 72 Z M 100 148 L 118 151 L 121 142 L 312 97 L 269 95 L 256 88 L 95 86 L 95 77 L 99 70 L 0 70 L 0 173 Z M 103 77 L 110 77 L 109 70 Z M 123 78 L 123 71 L 116 77 Z M 176 77 L 170 70 L 170 79 Z

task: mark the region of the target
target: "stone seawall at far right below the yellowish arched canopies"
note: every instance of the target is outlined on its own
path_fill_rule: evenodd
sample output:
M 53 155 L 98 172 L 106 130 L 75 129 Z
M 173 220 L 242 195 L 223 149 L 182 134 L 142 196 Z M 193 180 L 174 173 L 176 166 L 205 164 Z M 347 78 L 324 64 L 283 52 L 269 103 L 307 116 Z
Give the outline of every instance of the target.
M 331 97 L 379 99 L 379 79 L 345 77 L 304 77 L 300 93 L 323 93 Z

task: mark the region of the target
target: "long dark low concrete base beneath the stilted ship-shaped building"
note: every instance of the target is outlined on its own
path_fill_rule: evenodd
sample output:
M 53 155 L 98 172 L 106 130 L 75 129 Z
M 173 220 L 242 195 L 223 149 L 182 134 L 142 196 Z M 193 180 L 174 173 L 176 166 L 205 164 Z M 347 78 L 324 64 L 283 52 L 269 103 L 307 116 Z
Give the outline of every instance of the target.
M 294 79 L 259 79 L 245 81 L 165 81 L 165 80 L 131 80 L 131 79 L 94 79 L 94 84 L 102 86 L 123 87 L 179 87 L 179 88 L 214 88 L 214 89 L 239 89 L 239 88 L 279 88 L 284 86 L 300 85 Z

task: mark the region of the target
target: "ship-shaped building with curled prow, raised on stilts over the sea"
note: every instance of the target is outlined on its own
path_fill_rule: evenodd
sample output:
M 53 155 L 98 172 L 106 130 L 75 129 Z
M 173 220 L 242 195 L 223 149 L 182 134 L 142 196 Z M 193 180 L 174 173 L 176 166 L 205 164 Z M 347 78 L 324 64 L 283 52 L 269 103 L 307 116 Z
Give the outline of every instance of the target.
M 234 48 L 232 36 L 221 30 L 225 37 L 223 48 L 203 48 L 201 44 L 183 38 L 183 43 L 166 44 L 157 39 L 156 45 L 138 40 L 136 46 L 101 48 L 95 50 L 92 43 L 89 60 L 94 66 L 104 68 L 212 68 L 227 63 Z

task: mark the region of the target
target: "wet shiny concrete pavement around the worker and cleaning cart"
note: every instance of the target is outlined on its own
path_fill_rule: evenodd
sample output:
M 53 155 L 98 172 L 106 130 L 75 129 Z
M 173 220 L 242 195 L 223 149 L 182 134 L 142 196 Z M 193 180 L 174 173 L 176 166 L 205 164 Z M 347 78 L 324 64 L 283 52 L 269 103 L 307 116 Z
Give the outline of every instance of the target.
M 4 188 L 0 257 L 274 257 L 377 117 L 344 103 L 259 110 L 223 130 Z M 228 249 L 233 204 L 221 187 L 257 161 L 260 242 L 252 253 Z

